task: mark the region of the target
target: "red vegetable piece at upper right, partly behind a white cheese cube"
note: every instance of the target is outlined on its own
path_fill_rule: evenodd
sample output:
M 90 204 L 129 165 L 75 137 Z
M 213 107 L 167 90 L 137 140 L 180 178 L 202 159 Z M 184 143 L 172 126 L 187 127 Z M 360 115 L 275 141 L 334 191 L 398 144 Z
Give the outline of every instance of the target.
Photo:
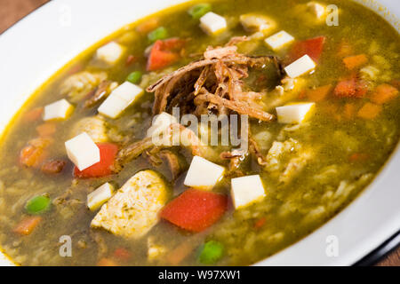
M 294 43 L 289 54 L 289 59 L 293 61 L 307 54 L 311 59 L 317 62 L 324 49 L 325 40 L 325 36 L 317 36 Z

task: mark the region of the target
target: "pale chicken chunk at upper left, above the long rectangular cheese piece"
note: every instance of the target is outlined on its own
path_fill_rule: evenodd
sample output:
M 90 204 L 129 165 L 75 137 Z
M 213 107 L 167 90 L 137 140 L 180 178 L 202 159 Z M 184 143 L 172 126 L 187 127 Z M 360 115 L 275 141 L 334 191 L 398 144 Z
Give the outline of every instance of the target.
M 107 73 L 91 73 L 83 71 L 70 75 L 61 84 L 61 95 L 68 96 L 68 101 L 76 103 L 90 92 L 93 91 L 102 81 L 107 79 Z

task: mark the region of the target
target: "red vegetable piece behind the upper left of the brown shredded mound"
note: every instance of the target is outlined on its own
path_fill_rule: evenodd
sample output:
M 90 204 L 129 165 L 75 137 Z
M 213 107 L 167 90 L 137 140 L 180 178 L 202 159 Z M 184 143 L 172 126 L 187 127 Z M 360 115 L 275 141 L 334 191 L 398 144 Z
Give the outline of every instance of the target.
M 148 56 L 147 70 L 156 71 L 180 59 L 179 50 L 185 43 L 186 41 L 179 38 L 156 41 Z

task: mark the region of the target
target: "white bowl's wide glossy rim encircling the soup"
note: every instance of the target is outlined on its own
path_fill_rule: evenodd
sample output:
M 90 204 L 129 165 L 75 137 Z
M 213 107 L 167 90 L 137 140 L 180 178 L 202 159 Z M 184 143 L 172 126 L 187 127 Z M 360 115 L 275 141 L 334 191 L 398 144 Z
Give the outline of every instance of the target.
M 77 54 L 128 23 L 186 1 L 151 0 L 138 4 L 132 0 L 53 0 L 20 20 L 0 36 L 0 132 L 28 96 Z M 400 18 L 400 2 L 356 1 L 379 12 L 399 31 L 396 19 Z M 356 263 L 400 229 L 399 170 L 397 150 L 348 208 L 315 233 L 258 265 Z M 329 236 L 337 238 L 334 240 L 339 244 L 339 256 L 327 256 Z M 12 262 L 0 253 L 0 265 Z

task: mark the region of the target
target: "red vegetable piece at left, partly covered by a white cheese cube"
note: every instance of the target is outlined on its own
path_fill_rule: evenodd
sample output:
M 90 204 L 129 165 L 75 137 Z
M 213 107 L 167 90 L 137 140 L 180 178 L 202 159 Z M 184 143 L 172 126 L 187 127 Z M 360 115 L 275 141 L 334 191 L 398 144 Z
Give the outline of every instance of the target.
M 100 162 L 85 170 L 74 168 L 74 177 L 106 177 L 112 173 L 112 166 L 116 160 L 118 146 L 112 143 L 97 143 L 100 149 Z

